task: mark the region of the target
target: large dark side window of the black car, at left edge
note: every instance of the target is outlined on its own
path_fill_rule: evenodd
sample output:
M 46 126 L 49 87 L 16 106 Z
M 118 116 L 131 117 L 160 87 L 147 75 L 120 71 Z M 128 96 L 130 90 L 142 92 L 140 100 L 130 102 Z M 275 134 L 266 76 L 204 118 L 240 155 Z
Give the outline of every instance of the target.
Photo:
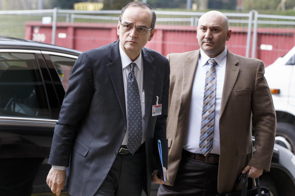
M 0 53 L 0 116 L 50 117 L 33 54 Z

